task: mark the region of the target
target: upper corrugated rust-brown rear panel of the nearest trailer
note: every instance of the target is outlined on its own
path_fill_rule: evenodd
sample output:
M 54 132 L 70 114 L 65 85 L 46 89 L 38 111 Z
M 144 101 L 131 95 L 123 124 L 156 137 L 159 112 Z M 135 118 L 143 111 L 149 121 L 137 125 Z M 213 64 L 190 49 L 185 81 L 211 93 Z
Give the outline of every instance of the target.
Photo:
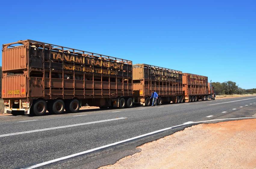
M 26 69 L 27 46 L 7 47 L 3 45 L 2 71 Z

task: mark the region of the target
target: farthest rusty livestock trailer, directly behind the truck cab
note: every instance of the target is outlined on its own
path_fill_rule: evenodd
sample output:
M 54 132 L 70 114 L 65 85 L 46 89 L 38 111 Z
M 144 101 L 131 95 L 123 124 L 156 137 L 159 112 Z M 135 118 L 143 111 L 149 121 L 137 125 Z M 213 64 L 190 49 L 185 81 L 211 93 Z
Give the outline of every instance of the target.
M 185 102 L 208 100 L 208 77 L 190 73 L 182 74 Z

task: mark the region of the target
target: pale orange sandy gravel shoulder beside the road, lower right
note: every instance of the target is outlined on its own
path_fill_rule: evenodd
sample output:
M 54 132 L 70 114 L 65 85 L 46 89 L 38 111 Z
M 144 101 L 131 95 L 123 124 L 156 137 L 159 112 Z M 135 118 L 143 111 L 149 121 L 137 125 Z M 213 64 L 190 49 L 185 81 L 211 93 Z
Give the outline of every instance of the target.
M 109 168 L 256 168 L 256 119 L 191 126 Z

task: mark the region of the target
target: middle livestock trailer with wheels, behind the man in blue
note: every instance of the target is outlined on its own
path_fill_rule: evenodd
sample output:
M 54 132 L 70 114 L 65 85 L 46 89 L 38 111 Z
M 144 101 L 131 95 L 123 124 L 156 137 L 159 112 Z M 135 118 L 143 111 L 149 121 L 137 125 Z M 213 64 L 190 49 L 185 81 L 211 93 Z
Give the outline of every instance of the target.
M 162 102 L 183 102 L 182 72 L 149 64 L 132 66 L 134 103 L 149 106 L 152 90 L 158 93 L 158 105 Z

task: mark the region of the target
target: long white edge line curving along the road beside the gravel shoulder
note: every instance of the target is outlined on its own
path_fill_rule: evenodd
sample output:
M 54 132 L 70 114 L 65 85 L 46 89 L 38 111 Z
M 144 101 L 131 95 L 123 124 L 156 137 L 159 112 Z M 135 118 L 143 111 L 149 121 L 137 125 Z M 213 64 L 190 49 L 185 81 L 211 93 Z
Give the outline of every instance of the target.
M 203 123 L 203 122 L 208 122 L 208 121 L 231 120 L 231 119 L 248 119 L 248 118 L 255 118 L 255 117 L 215 119 L 215 120 L 205 120 L 205 121 L 198 121 L 198 122 L 192 122 L 192 123 L 195 124 L 195 123 Z M 191 124 L 191 123 L 189 123 L 189 124 Z M 154 132 L 150 132 L 150 133 L 147 133 L 147 134 L 139 135 L 139 136 L 136 136 L 136 137 L 133 137 L 133 138 L 128 138 L 126 140 L 118 141 L 118 142 L 115 142 L 115 143 L 112 143 L 112 144 L 107 144 L 105 146 L 97 147 L 97 148 L 94 148 L 94 149 L 91 149 L 91 150 L 86 150 L 86 151 L 83 151 L 83 152 L 80 152 L 80 153 L 71 154 L 69 156 L 64 156 L 64 157 L 61 157 L 61 158 L 58 158 L 58 159 L 53 159 L 53 160 L 50 160 L 50 161 L 47 161 L 47 162 L 42 162 L 42 163 L 39 163 L 39 164 L 36 164 L 36 165 L 32 165 L 30 167 L 27 167 L 27 169 L 44 166 L 44 165 L 51 164 L 51 163 L 54 163 L 54 162 L 58 162 L 58 161 L 61 161 L 61 160 L 64 160 L 64 159 L 69 159 L 69 158 L 72 158 L 72 157 L 75 157 L 75 156 L 87 154 L 87 153 L 90 153 L 90 152 L 93 152 L 93 151 L 96 151 L 96 150 L 100 150 L 100 149 L 103 149 L 103 148 L 106 148 L 106 147 L 110 147 L 110 146 L 121 144 L 121 143 L 124 143 L 124 142 L 127 142 L 127 141 L 135 140 L 137 138 L 141 138 L 141 137 L 145 137 L 145 136 L 148 136 L 148 135 L 159 133 L 159 132 L 162 132 L 162 131 L 165 131 L 165 130 L 169 130 L 169 129 L 172 129 L 174 127 L 185 126 L 185 125 L 187 125 L 187 124 L 180 124 L 180 125 L 177 125 L 177 126 L 172 126 L 172 127 L 168 127 L 168 128 L 165 128 L 165 129 L 161 129 L 161 130 L 157 130 L 157 131 L 154 131 Z

